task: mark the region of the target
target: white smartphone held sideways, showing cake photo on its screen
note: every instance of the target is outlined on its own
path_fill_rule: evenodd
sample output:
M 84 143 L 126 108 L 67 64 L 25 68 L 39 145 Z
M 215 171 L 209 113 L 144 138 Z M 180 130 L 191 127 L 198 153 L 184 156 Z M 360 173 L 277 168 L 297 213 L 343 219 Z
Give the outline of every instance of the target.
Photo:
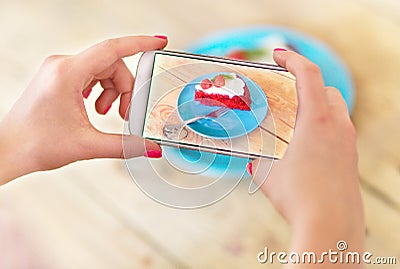
M 158 50 L 139 60 L 129 130 L 166 146 L 280 159 L 296 113 L 285 68 Z

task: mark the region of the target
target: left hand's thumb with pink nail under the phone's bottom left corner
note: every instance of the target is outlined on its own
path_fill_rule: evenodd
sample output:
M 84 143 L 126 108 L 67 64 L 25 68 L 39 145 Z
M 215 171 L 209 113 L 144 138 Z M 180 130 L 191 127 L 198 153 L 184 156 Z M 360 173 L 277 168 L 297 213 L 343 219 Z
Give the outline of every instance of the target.
M 160 146 L 136 135 L 98 133 L 90 141 L 89 158 L 161 158 Z

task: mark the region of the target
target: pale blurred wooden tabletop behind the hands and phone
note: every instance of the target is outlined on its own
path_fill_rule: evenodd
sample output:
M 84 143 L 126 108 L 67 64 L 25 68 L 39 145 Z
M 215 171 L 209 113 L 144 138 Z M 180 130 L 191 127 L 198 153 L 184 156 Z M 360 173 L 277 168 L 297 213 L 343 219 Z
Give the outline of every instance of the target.
M 308 34 L 347 64 L 356 89 L 367 250 L 400 262 L 398 0 L 3 1 L 0 118 L 50 54 L 130 34 L 164 34 L 169 49 L 185 49 L 210 33 L 253 25 Z M 87 103 L 93 124 L 122 132 L 117 105 L 107 116 L 94 113 L 99 94 L 95 89 Z M 262 193 L 250 196 L 247 187 L 210 207 L 177 210 L 143 194 L 122 161 L 79 162 L 1 187 L 0 226 L 52 268 L 258 268 L 257 253 L 287 249 L 290 230 Z

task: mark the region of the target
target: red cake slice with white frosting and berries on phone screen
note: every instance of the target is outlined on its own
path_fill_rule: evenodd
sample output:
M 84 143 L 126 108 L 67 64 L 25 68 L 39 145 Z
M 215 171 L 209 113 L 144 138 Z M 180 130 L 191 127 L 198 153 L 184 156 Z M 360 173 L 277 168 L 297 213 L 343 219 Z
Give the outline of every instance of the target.
M 205 78 L 195 86 L 194 100 L 207 106 L 227 106 L 231 109 L 250 110 L 250 91 L 235 73 L 221 73 Z

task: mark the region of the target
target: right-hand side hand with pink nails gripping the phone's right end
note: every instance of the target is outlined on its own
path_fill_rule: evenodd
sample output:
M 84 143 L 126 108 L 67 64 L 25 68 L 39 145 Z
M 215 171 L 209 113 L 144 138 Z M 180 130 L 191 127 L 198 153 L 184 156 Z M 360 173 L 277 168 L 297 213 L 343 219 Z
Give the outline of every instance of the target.
M 274 207 L 292 227 L 291 251 L 322 253 L 340 240 L 361 253 L 365 227 L 358 176 L 356 133 L 340 92 L 325 87 L 317 65 L 299 54 L 278 49 L 275 62 L 296 77 L 298 114 L 285 156 L 273 163 L 261 185 Z M 265 179 L 267 161 L 247 169 L 256 183 Z M 317 256 L 318 257 L 318 256 Z M 328 268 L 327 261 L 288 268 Z M 329 264 L 362 268 L 362 264 Z

